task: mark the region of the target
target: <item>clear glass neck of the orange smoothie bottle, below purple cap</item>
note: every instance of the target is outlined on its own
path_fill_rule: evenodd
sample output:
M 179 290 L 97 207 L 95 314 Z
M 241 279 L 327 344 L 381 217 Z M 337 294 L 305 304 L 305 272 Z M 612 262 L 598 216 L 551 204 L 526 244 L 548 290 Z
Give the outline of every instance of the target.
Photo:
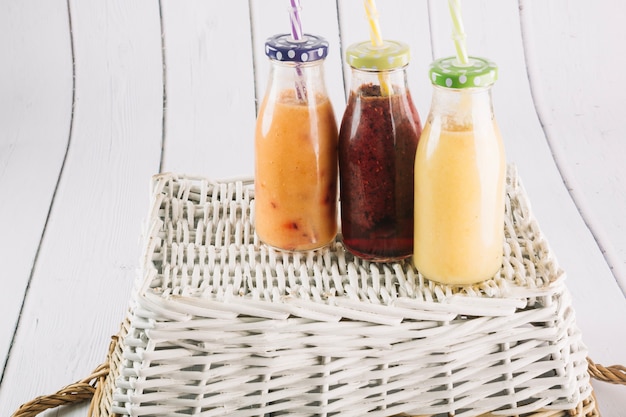
M 328 96 L 324 79 L 324 60 L 298 64 L 275 60 L 270 62 L 267 94 L 274 99 L 294 96 L 297 101 L 307 102 Z

